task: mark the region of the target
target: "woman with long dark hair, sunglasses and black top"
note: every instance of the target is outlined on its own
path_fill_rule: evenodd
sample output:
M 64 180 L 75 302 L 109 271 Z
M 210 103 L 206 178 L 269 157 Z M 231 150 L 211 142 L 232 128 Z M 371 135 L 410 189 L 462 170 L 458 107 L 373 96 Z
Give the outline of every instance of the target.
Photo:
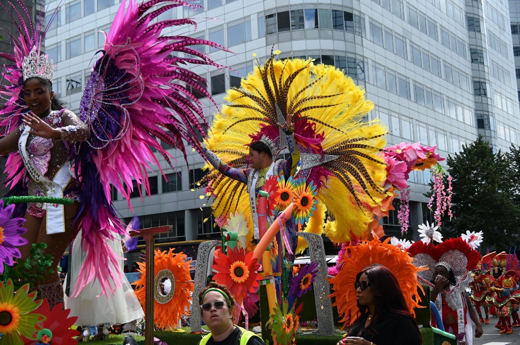
M 337 345 L 421 345 L 419 327 L 408 311 L 399 283 L 379 264 L 356 275 L 358 318 Z

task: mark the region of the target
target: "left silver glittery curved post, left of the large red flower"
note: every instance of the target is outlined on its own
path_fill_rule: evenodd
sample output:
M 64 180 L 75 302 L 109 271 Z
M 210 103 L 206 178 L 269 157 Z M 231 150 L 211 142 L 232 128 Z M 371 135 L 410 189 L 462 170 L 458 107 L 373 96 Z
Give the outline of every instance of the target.
M 210 258 L 211 250 L 219 241 L 206 241 L 199 244 L 197 254 L 197 268 L 195 269 L 195 283 L 193 289 L 193 303 L 191 307 L 191 332 L 205 332 L 200 324 L 200 303 L 199 294 L 206 287 L 207 266 Z

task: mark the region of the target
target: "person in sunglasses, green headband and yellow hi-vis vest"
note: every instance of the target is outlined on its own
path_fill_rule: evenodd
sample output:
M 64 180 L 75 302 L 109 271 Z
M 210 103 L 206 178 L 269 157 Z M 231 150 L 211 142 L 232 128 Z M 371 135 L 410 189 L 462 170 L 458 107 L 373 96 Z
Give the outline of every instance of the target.
M 233 324 L 235 300 L 225 285 L 210 282 L 199 294 L 202 320 L 211 330 L 199 345 L 265 345 L 261 337 Z

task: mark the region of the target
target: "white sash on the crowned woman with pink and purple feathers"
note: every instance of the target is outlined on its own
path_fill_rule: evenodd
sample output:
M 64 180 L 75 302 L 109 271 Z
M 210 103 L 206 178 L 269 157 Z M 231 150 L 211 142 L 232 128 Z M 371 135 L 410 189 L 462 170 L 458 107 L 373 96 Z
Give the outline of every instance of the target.
M 31 128 L 29 126 L 25 126 L 20 136 L 20 140 L 18 141 L 18 148 L 25 165 L 25 171 L 28 172 L 34 181 L 43 184 L 45 188 L 47 188 L 48 197 L 63 198 L 63 189 L 67 186 L 72 178 L 70 173 L 70 163 L 67 161 L 65 164 L 63 164 L 63 166 L 56 173 L 53 181 L 50 181 L 47 177 L 42 175 L 40 171 L 34 167 L 31 158 L 27 154 L 27 149 L 25 149 L 27 146 L 27 139 L 29 137 L 30 129 Z M 47 211 L 45 217 L 47 222 L 47 234 L 65 232 L 65 216 L 63 205 L 44 203 L 43 209 Z

